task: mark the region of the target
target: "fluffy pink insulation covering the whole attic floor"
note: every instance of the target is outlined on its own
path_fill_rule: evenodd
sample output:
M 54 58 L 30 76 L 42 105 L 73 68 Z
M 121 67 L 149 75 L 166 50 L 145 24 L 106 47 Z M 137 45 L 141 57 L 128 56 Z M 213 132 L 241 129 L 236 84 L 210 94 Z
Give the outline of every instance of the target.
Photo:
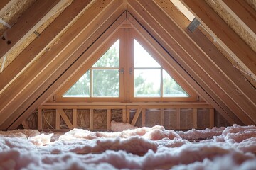
M 0 131 L 0 170 L 256 169 L 255 126 L 182 132 L 112 121 L 111 128 Z

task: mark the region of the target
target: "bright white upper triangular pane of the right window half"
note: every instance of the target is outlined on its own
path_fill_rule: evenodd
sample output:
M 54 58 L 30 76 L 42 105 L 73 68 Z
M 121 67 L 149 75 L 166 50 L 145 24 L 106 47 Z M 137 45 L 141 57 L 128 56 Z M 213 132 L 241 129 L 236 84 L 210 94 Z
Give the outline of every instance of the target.
M 134 67 L 161 67 L 149 52 L 134 39 Z

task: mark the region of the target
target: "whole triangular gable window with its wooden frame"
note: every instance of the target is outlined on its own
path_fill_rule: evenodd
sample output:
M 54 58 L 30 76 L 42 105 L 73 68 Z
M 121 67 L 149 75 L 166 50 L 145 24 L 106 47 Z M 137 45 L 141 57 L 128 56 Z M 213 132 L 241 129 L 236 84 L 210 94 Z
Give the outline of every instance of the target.
M 59 101 L 195 101 L 191 89 L 183 89 L 162 67 L 164 60 L 146 50 L 148 42 L 141 44 L 133 29 L 119 30 L 122 34 L 105 42 L 105 51 L 95 52 L 80 77 L 71 79 L 75 83 L 60 91 Z

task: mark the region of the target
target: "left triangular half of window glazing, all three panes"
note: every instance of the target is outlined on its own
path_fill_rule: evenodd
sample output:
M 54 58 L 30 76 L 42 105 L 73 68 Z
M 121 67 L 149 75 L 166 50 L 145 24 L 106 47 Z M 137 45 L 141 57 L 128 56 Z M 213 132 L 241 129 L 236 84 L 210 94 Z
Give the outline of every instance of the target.
M 119 40 L 63 97 L 119 97 Z

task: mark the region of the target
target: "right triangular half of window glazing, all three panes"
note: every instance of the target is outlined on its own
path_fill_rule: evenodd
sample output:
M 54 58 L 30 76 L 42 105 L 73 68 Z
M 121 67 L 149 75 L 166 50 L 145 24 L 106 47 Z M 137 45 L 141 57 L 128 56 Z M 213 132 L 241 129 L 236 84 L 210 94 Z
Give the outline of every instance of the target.
M 182 87 L 134 39 L 134 97 L 188 97 Z

